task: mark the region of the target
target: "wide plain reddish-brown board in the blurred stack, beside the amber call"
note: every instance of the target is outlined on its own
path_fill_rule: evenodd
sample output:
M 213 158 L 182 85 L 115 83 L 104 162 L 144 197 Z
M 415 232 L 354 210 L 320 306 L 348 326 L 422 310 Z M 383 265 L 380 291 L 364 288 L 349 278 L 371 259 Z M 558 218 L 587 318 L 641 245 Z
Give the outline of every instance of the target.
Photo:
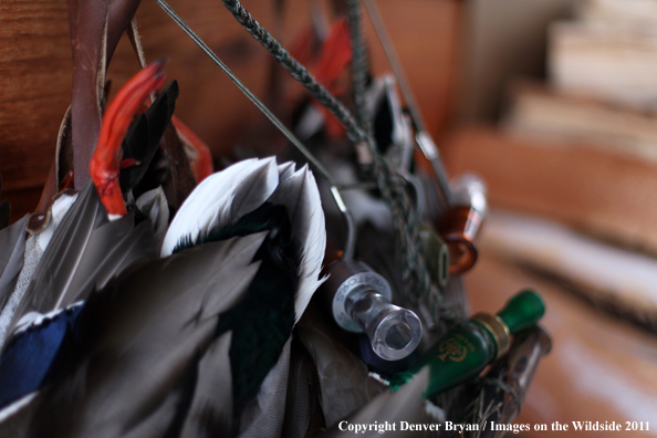
M 655 164 L 586 145 L 544 145 L 486 127 L 457 132 L 445 150 L 450 175 L 481 175 L 493 206 L 657 252 Z

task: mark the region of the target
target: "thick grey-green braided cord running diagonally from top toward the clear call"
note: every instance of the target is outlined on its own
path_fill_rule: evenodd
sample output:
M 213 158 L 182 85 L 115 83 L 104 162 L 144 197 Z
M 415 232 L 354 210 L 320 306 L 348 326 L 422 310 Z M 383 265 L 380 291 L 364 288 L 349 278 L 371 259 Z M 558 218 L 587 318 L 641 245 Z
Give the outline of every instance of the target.
M 420 296 L 428 295 L 430 280 L 418 251 L 417 218 L 414 216 L 403 178 L 377 154 L 374 139 L 358 125 L 350 111 L 320 85 L 309 71 L 253 19 L 239 0 L 222 0 L 222 2 L 238 22 L 279 61 L 288 73 L 344 125 L 352 142 L 367 144 L 373 155 L 373 173 L 376 185 L 392 210 L 395 230 L 399 234 L 404 260 L 401 279 L 405 285 L 405 295 L 411 302 L 418 302 Z

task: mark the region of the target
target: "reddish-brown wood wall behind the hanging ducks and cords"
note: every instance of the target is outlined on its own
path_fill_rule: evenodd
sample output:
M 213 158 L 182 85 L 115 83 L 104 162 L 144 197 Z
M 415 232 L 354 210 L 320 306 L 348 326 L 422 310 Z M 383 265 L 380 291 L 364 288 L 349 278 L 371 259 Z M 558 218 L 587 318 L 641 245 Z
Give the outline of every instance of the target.
M 255 94 L 264 94 L 269 54 L 220 1 L 171 0 L 170 4 Z M 272 28 L 273 1 L 244 0 L 243 4 L 288 45 L 310 24 L 309 0 L 284 2 L 279 32 Z M 461 7 L 456 0 L 378 0 L 378 6 L 427 123 L 438 133 L 447 121 L 453 88 Z M 167 75 L 180 84 L 177 115 L 215 154 L 229 148 L 258 117 L 255 107 L 154 1 L 142 2 L 137 19 L 147 59 L 170 60 Z M 369 22 L 366 23 L 373 69 L 377 73 L 387 71 L 383 51 Z M 107 76 L 113 81 L 113 90 L 137 69 L 129 43 L 124 39 Z M 12 201 L 12 220 L 30 211 L 38 201 L 70 93 L 66 1 L 2 0 L 0 173 L 1 197 Z

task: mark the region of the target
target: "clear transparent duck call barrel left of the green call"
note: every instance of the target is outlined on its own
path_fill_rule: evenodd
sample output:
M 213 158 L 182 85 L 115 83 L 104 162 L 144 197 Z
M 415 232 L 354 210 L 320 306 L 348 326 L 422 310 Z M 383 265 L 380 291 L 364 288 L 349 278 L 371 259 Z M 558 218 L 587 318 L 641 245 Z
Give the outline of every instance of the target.
M 342 328 L 365 332 L 372 350 L 386 361 L 398 361 L 415 351 L 423 327 L 411 311 L 390 302 L 388 282 L 367 264 L 341 260 L 330 268 L 323 292 L 333 317 Z

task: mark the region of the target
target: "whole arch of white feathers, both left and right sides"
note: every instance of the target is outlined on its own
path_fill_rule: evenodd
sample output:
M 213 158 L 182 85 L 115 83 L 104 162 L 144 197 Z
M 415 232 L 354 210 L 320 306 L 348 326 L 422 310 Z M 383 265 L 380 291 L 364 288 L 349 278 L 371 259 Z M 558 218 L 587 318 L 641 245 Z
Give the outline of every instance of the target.
M 173 253 L 184 238 L 196 242 L 216 227 L 234 223 L 270 200 L 285 206 L 293 237 L 301 242 L 302 260 L 295 294 L 295 322 L 315 290 L 326 248 L 326 227 L 320 190 L 307 166 L 294 170 L 293 163 L 277 166 L 275 158 L 248 159 L 206 178 L 189 195 L 165 237 L 161 257 Z

